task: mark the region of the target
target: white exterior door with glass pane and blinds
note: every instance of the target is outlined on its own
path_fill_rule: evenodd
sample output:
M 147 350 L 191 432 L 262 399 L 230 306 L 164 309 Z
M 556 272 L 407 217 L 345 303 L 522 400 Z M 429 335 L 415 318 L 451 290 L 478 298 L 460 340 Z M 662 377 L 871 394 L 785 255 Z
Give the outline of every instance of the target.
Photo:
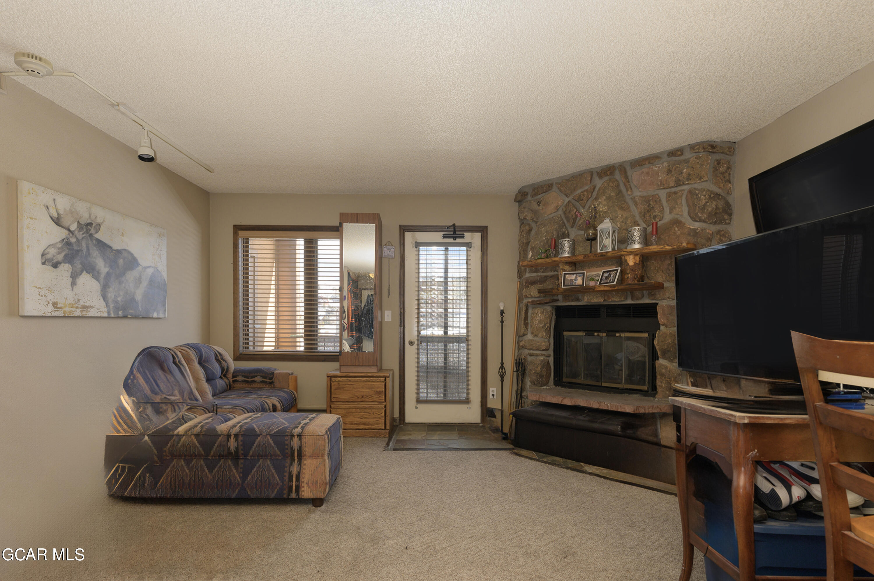
M 404 240 L 406 422 L 479 423 L 482 235 Z

